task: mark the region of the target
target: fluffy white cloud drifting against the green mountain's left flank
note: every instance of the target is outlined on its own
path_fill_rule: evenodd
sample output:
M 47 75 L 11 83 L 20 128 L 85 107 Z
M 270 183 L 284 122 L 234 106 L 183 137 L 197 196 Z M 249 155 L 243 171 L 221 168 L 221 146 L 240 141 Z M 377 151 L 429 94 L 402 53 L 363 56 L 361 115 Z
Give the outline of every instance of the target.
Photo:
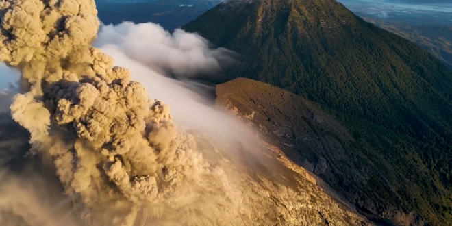
M 134 40 L 125 42 L 123 40 Z M 198 34 L 175 29 L 173 34 L 160 25 L 131 22 L 102 27 L 95 45 L 108 43 L 121 49 L 129 58 L 139 60 L 154 70 L 175 77 L 192 77 L 200 73 L 220 73 L 234 62 L 234 53 L 227 49 L 210 49 L 207 40 Z M 140 49 L 140 51 L 135 51 Z

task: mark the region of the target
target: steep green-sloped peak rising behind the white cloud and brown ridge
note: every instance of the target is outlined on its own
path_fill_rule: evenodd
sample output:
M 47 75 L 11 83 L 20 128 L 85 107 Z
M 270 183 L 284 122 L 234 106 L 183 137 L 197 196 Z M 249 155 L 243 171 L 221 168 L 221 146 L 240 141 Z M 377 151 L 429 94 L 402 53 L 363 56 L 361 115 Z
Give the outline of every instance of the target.
M 329 9 L 338 5 L 338 3 L 334 3 L 333 1 L 290 1 L 292 2 L 290 5 L 284 4 L 284 1 L 268 1 L 270 3 L 276 2 L 278 4 L 267 3 L 267 5 L 264 4 L 265 2 L 267 1 L 247 3 L 240 8 L 238 12 L 235 12 L 238 13 L 238 15 L 234 15 L 234 21 L 227 21 L 225 18 L 221 17 L 223 16 L 222 13 L 225 14 L 225 16 L 230 16 L 228 15 L 229 11 L 225 9 L 228 6 L 223 6 L 227 4 L 223 3 L 183 27 L 189 32 L 199 32 L 202 36 L 213 42 L 214 45 L 226 47 L 242 54 L 242 58 L 239 60 L 242 62 L 241 66 L 229 70 L 226 75 L 227 78 L 220 79 L 219 81 L 217 80 L 217 82 L 227 81 L 234 77 L 249 77 L 250 79 L 257 79 L 281 88 L 286 88 L 287 90 L 308 97 L 309 99 L 324 105 L 334 105 L 335 108 L 339 108 L 342 111 L 347 112 L 349 108 L 352 108 L 351 111 L 353 112 L 349 110 L 348 113 L 367 117 L 372 116 L 367 113 L 368 111 L 378 112 L 379 117 L 384 117 L 386 110 L 381 110 L 374 106 L 391 106 L 393 103 L 391 97 L 400 96 L 400 92 L 404 95 L 413 96 L 416 95 L 416 90 L 428 88 L 430 89 L 429 92 L 424 92 L 422 95 L 416 95 L 416 98 L 418 98 L 417 101 L 423 102 L 420 105 L 425 106 L 434 103 L 436 105 L 434 107 L 439 109 L 438 112 L 442 114 L 441 118 L 443 120 L 444 118 L 447 118 L 448 112 L 442 110 L 443 106 L 446 106 L 447 110 L 452 110 L 452 92 L 450 91 L 452 90 L 450 85 L 452 84 L 452 71 L 445 68 L 438 60 L 429 55 L 426 51 L 420 49 L 420 47 L 417 47 L 403 38 L 399 38 L 399 36 L 390 34 L 390 32 L 379 29 L 357 17 L 345 19 L 343 21 L 346 21 L 345 23 L 359 23 L 361 27 L 364 26 L 366 29 L 371 29 L 371 31 L 375 30 L 388 38 L 397 39 L 396 42 L 394 42 L 396 44 L 397 42 L 401 43 L 399 43 L 398 46 L 390 47 L 390 45 L 386 45 L 386 43 L 376 39 L 372 42 L 360 44 L 362 41 L 365 42 L 366 40 L 370 40 L 367 36 L 371 35 L 360 32 L 360 30 L 353 32 L 354 28 L 347 28 L 347 25 L 341 27 L 340 31 L 336 31 L 335 29 L 338 27 L 334 26 L 338 26 L 339 21 L 328 23 L 327 18 L 325 18 L 325 20 L 320 19 L 315 21 L 314 18 L 317 18 L 318 16 L 311 16 L 309 10 L 303 7 L 301 7 L 299 11 L 302 11 L 302 17 L 306 18 L 307 21 L 304 20 L 303 23 L 301 23 L 299 22 L 302 21 L 301 19 L 293 18 L 299 15 L 299 12 L 294 12 L 296 10 L 293 10 L 294 2 L 312 3 L 312 5 L 306 6 L 309 6 L 309 8 L 315 8 L 316 5 L 314 3 L 322 2 L 327 3 L 327 5 L 321 5 L 321 7 Z M 275 10 L 276 5 L 284 9 Z M 237 8 L 237 6 L 235 7 Z M 256 7 L 258 7 L 258 11 L 253 12 L 253 9 Z M 264 18 L 265 16 L 262 15 L 266 14 L 265 10 L 268 10 L 269 8 L 271 8 L 271 10 L 266 17 L 269 17 L 270 21 L 268 21 L 267 25 L 260 25 L 260 23 L 264 23 L 266 20 Z M 286 8 L 290 8 L 291 12 L 288 12 Z M 323 8 L 321 8 L 321 10 L 323 10 Z M 339 9 L 347 10 L 343 6 Z M 250 11 L 254 13 L 252 15 L 255 16 L 255 18 L 242 18 L 242 16 L 249 16 Z M 344 14 L 345 16 L 342 18 L 352 15 L 348 10 L 347 13 L 341 13 L 335 10 L 330 11 L 331 12 L 329 13 L 333 14 L 336 12 Z M 275 12 L 275 14 L 273 14 L 273 12 Z M 211 14 L 216 15 L 212 16 Z M 217 18 L 218 21 L 215 21 L 213 18 Z M 240 24 L 240 21 L 242 20 L 245 22 Z M 224 22 L 221 23 L 221 21 Z M 205 25 L 204 22 L 207 24 Z M 286 26 L 284 30 L 281 30 L 282 28 L 279 25 L 281 23 Z M 340 23 L 342 23 L 342 21 Z M 197 29 L 197 24 L 202 25 L 203 27 Z M 272 28 L 272 25 L 275 28 Z M 298 28 L 292 29 L 294 26 Z M 219 30 L 216 31 L 211 29 L 212 27 L 217 27 Z M 266 29 L 261 29 L 260 27 L 265 27 Z M 317 30 L 319 28 L 320 30 Z M 344 29 L 346 32 L 343 32 Z M 258 32 L 258 34 L 255 34 L 255 32 Z M 316 34 L 311 34 L 310 32 Z M 336 37 L 338 32 L 342 33 L 340 36 L 338 35 Z M 237 34 L 234 35 L 235 33 Z M 271 35 L 276 38 L 272 38 Z M 356 38 L 356 36 L 364 36 L 364 38 Z M 319 38 L 324 38 L 324 40 L 318 40 Z M 353 42 L 349 40 L 353 40 Z M 377 44 L 374 42 L 377 42 Z M 364 49 L 353 49 L 351 46 L 356 43 Z M 403 45 L 407 45 L 407 47 L 405 48 Z M 379 49 L 381 46 L 386 48 L 388 53 Z M 423 64 L 418 64 L 416 59 L 412 59 L 410 56 L 411 54 L 403 53 L 404 49 L 414 49 L 417 55 L 422 54 L 422 60 L 426 59 L 426 62 L 431 62 L 431 65 L 429 64 L 430 68 L 426 68 Z M 375 58 L 371 60 L 372 65 L 362 62 L 362 60 L 372 58 Z M 401 65 L 398 66 L 392 64 Z M 427 63 L 424 63 L 424 65 L 425 64 Z M 384 68 L 381 68 L 381 66 L 384 66 Z M 381 71 L 383 71 L 383 73 L 381 73 Z M 399 76 L 388 77 L 384 74 L 385 72 L 390 71 L 392 71 L 392 75 L 397 74 Z M 432 71 L 438 71 L 439 75 L 442 74 L 444 76 L 431 75 Z M 430 74 L 423 75 L 425 73 Z M 410 84 L 417 83 L 418 85 L 416 85 L 416 87 L 404 87 L 404 81 L 407 80 L 410 81 Z M 380 89 L 379 84 L 381 83 L 389 90 L 378 90 Z M 436 87 L 441 87 L 441 89 L 431 89 L 430 83 L 434 83 Z M 378 90 L 378 93 L 368 92 L 368 90 Z M 388 91 L 391 93 L 386 95 L 386 92 Z M 353 99 L 355 98 L 353 97 L 355 96 L 355 93 L 360 93 L 361 97 L 365 95 L 365 98 Z M 431 95 L 431 93 L 437 95 Z M 346 97 L 341 97 L 345 95 Z M 377 104 L 372 103 L 375 102 L 373 101 L 375 100 L 375 98 L 373 98 L 374 95 L 379 97 L 379 103 Z M 413 97 L 401 98 L 410 99 L 409 101 L 414 99 Z M 399 97 L 398 99 L 401 98 Z M 431 101 L 432 99 L 435 101 Z M 369 103 L 369 101 L 371 103 Z M 398 108 L 399 106 L 396 107 Z M 397 108 L 393 108 L 391 112 L 394 112 Z M 401 114 L 402 112 L 397 113 Z M 394 116 L 388 116 L 385 119 L 387 121 L 390 118 L 394 118 Z M 381 121 L 376 116 L 373 119 Z M 391 121 L 387 124 L 392 125 L 393 123 L 397 122 Z M 451 125 L 452 121 L 449 119 L 447 123 Z M 452 131 L 450 131 L 450 129 L 447 130 L 449 130 L 447 131 L 447 137 L 451 138 Z

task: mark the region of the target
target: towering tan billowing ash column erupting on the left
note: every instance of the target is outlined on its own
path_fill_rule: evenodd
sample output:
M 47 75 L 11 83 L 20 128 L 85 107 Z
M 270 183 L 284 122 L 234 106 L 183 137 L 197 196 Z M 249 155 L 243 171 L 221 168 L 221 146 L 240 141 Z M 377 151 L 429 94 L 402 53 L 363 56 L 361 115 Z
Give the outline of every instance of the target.
M 174 205 L 171 192 L 186 185 L 179 181 L 195 183 L 208 170 L 168 107 L 91 46 L 94 1 L 2 1 L 0 14 L 0 60 L 29 84 L 12 116 L 32 148 L 54 160 L 87 222 L 131 225 L 141 203 Z M 111 214 L 97 212 L 105 209 Z

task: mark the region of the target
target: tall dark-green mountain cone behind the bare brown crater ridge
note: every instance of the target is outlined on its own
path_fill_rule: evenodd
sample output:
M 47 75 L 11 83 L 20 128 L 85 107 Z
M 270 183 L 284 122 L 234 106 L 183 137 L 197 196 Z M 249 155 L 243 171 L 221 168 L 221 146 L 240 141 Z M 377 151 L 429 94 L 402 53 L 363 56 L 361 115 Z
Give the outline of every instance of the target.
M 184 27 L 242 55 L 241 66 L 222 81 L 264 81 L 451 145 L 451 129 L 429 122 L 452 125 L 452 71 L 412 42 L 334 1 L 258 1 L 232 13 L 227 8 L 221 4 Z

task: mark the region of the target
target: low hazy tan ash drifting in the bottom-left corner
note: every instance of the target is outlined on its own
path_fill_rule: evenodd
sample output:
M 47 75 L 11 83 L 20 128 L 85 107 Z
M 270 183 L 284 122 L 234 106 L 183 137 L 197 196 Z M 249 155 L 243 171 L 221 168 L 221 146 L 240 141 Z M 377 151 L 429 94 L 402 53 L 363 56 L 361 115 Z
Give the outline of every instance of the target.
M 31 168 L 21 175 L 0 171 L 2 225 L 81 225 L 71 215 L 71 199 L 64 197 L 58 186 L 53 186 L 54 181 L 45 178 Z

